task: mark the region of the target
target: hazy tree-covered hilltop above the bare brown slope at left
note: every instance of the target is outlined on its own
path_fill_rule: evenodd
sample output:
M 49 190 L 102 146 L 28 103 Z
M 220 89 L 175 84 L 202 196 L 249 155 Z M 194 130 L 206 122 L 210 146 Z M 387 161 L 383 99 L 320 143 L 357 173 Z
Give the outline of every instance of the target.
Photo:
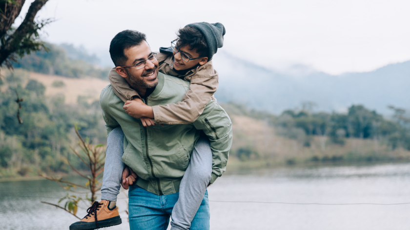
M 76 57 L 74 56 L 74 58 Z M 72 78 L 89 76 L 106 79 L 109 72 L 109 68 L 99 68 L 93 63 L 78 59 L 78 57 L 76 59 L 69 58 L 62 47 L 50 43 L 45 44 L 45 49 L 19 59 L 13 67 Z

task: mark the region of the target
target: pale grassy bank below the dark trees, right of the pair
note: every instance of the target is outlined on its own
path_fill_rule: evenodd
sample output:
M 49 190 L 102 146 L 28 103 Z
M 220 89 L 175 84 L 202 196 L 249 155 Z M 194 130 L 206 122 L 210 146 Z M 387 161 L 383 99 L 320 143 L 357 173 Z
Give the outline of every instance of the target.
M 384 141 L 350 138 L 344 146 L 331 144 L 326 136 L 315 136 L 310 147 L 303 142 L 276 134 L 267 121 L 232 115 L 234 141 L 230 154 L 240 148 L 252 149 L 250 159 L 229 158 L 233 168 L 254 168 L 268 165 L 318 163 L 371 163 L 409 161 L 410 151 L 392 151 Z

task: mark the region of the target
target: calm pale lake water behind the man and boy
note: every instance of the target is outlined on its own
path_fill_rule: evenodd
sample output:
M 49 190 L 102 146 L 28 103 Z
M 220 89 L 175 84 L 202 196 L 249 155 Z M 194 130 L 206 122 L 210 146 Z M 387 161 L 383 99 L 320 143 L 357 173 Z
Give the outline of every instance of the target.
M 118 202 L 123 224 L 110 230 L 129 229 L 125 193 L 120 194 Z M 410 228 L 410 204 L 307 204 L 410 203 L 410 164 L 228 172 L 208 193 L 211 230 Z M 68 230 L 77 221 L 75 217 L 40 203 L 57 203 L 64 194 L 57 183 L 47 180 L 0 183 L 0 229 Z M 79 210 L 80 216 L 85 214 Z

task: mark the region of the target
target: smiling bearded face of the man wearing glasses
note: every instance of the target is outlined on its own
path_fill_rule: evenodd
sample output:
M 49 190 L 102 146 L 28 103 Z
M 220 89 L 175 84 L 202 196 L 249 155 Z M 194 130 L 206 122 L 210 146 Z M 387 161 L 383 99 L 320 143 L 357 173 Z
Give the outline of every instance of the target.
M 152 54 L 152 51 L 148 43 L 143 41 L 140 45 L 125 49 L 124 54 L 128 58 L 124 65 L 131 66 L 147 59 Z M 135 67 L 124 68 L 128 75 L 125 79 L 134 89 L 145 91 L 145 89 L 154 88 L 158 84 L 158 60 L 145 61 L 146 65 L 142 69 L 137 70 Z

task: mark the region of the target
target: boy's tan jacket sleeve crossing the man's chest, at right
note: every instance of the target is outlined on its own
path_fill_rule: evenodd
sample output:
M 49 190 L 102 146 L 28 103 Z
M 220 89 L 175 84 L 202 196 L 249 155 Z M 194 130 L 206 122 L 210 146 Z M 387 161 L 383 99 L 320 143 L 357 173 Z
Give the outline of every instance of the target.
M 191 84 L 182 101 L 176 104 L 152 106 L 156 123 L 189 124 L 198 119 L 218 89 L 216 70 L 206 75 L 200 72 L 202 71 L 191 78 Z

